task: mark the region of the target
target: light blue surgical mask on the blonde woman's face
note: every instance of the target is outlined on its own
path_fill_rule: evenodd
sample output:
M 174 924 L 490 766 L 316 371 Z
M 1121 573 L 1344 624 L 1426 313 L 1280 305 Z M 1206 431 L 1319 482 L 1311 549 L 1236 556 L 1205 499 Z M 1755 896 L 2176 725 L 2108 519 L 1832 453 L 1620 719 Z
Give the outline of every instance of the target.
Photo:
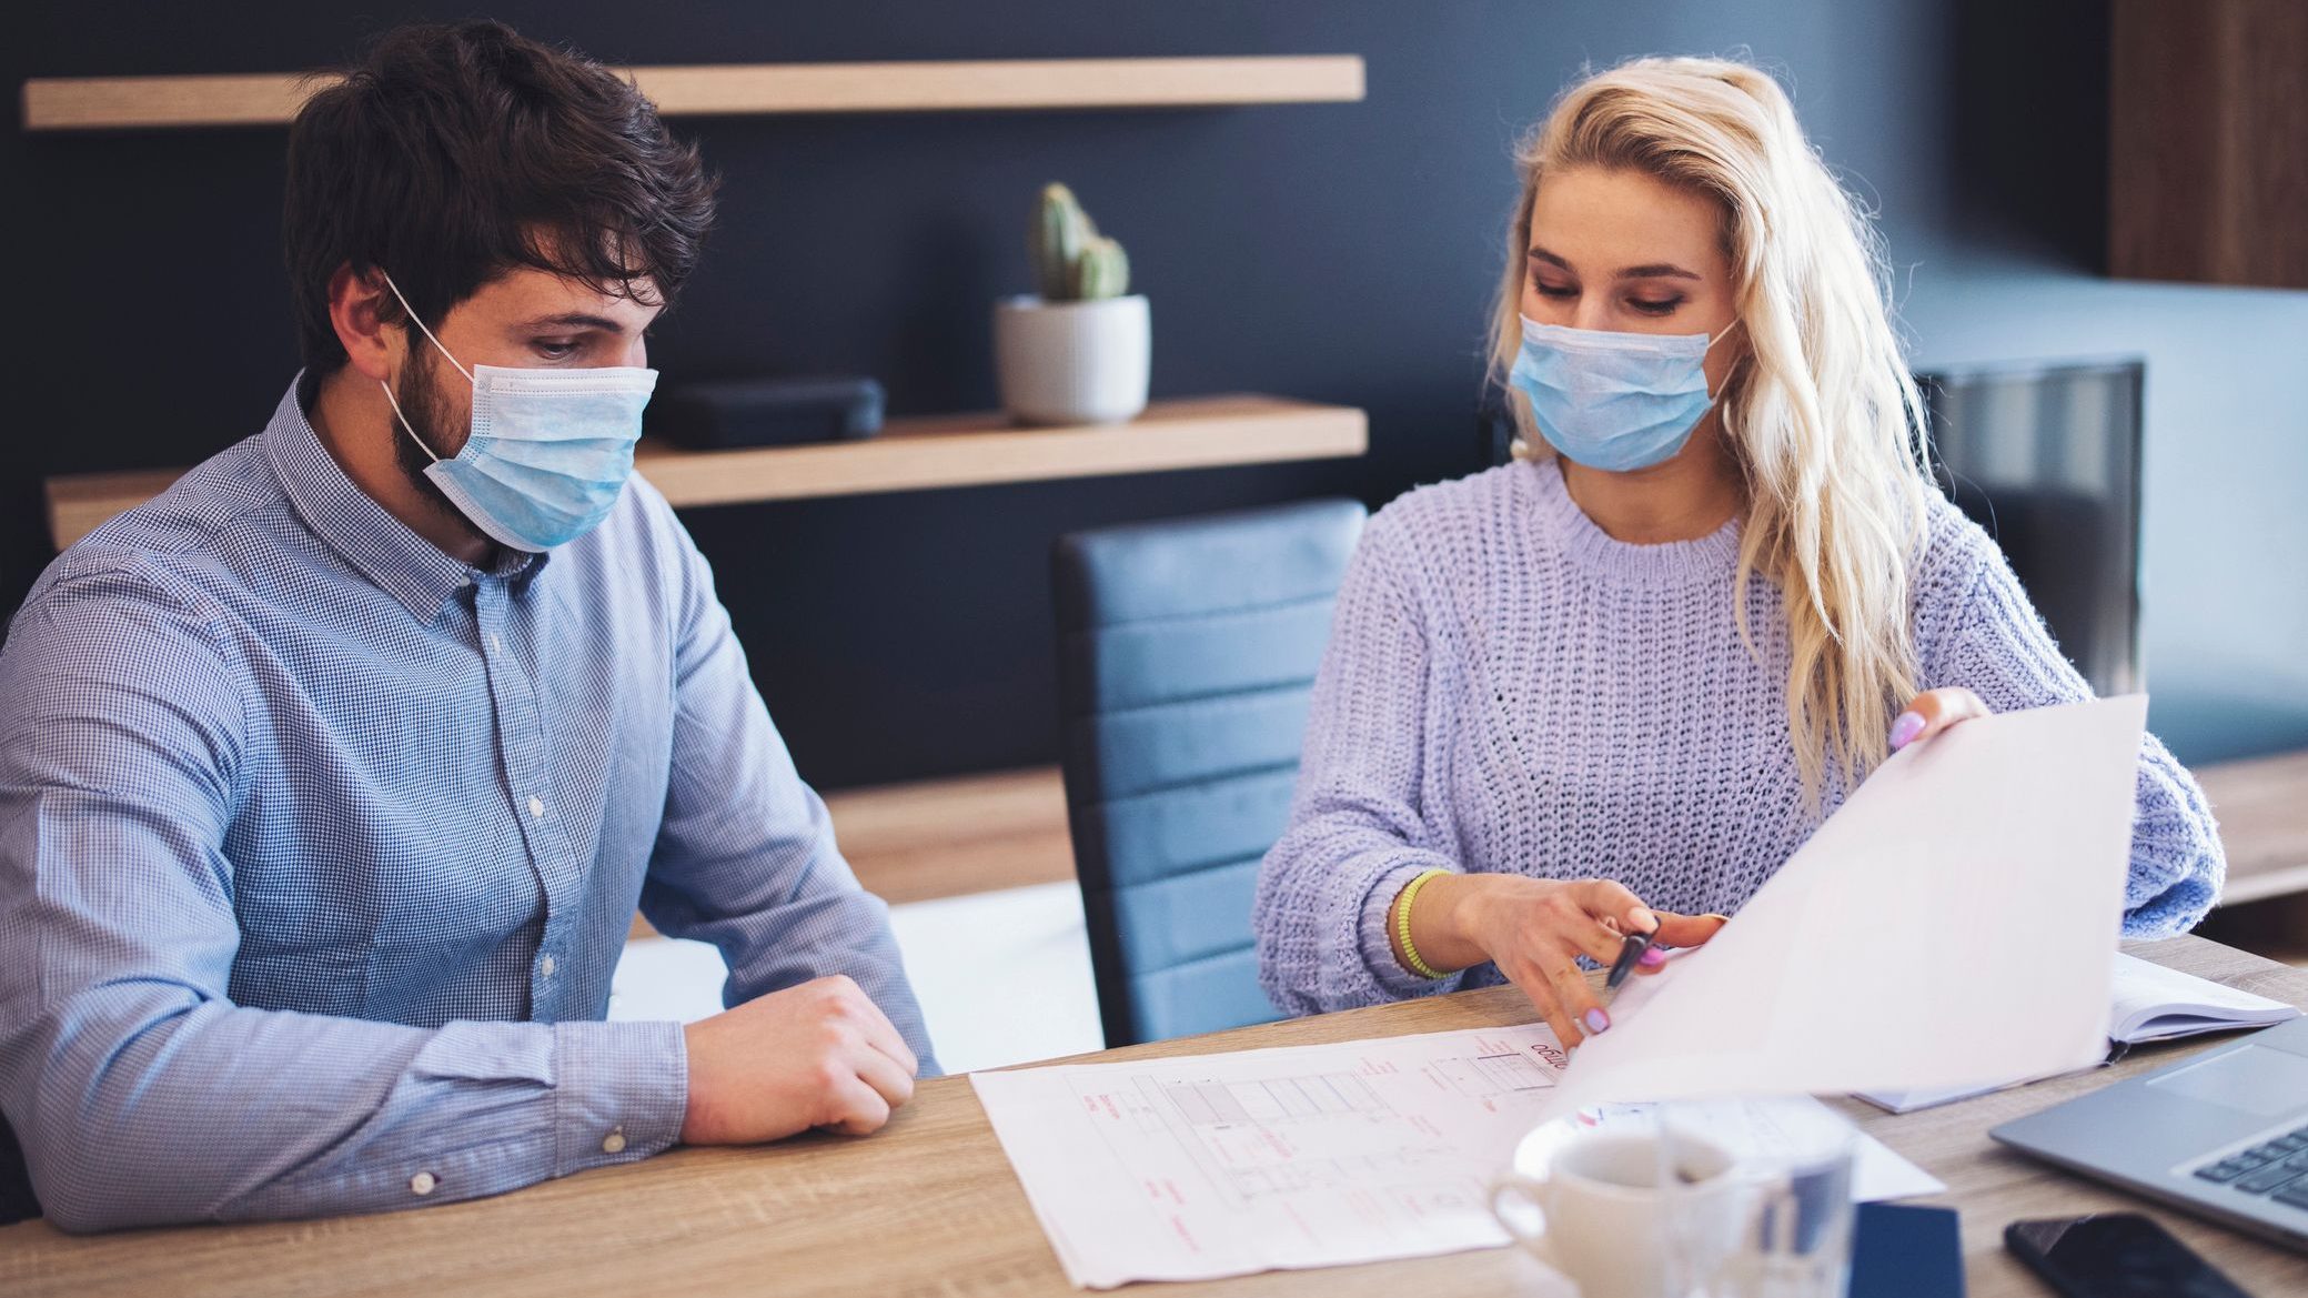
M 1609 333 L 1523 316 L 1507 381 L 1530 397 L 1539 434 L 1572 464 L 1650 469 L 1673 460 L 1715 404 L 1706 358 L 1729 333 Z

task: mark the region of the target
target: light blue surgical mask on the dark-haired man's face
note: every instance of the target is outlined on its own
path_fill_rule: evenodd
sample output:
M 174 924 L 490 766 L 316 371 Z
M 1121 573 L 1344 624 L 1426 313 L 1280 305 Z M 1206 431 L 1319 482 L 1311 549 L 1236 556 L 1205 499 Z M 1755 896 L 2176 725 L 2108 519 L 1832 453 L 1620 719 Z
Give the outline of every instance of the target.
M 385 286 L 425 337 L 448 356 L 399 284 Z M 628 365 L 593 370 L 519 370 L 475 365 L 457 372 L 473 383 L 471 434 L 457 455 L 441 460 L 409 427 L 392 383 L 385 400 L 409 441 L 432 464 L 425 478 L 441 487 L 464 517 L 492 540 L 542 552 L 600 527 L 632 476 L 632 446 L 642 439 L 642 409 L 658 390 L 658 372 Z

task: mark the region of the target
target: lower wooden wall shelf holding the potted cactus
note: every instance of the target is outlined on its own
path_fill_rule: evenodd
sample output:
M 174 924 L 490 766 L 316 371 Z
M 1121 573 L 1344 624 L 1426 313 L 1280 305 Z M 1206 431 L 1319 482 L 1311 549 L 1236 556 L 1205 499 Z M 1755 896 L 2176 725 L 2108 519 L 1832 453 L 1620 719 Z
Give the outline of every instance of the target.
M 932 416 L 889 420 L 879 437 L 812 446 L 681 450 L 644 441 L 635 462 L 674 506 L 729 506 L 1348 460 L 1366 448 L 1369 420 L 1359 409 L 1239 395 L 1154 402 L 1133 423 L 1096 427 Z M 168 490 L 180 473 L 132 469 L 48 478 L 48 536 L 65 550 L 115 513 Z

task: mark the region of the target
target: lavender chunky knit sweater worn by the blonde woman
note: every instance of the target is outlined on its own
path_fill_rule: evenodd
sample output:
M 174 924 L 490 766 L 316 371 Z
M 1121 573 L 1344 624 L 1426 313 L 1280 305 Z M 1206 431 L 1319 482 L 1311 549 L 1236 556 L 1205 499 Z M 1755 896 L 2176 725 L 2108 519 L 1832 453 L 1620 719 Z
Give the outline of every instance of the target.
M 1267 995 L 1290 1014 L 1491 986 L 1429 982 L 1387 945 L 1419 871 L 1611 878 L 1678 912 L 1738 912 L 1819 827 L 1786 728 L 1779 591 L 1738 520 L 1669 545 L 1613 540 L 1553 462 L 1415 490 L 1364 529 L 1313 686 L 1290 829 L 1258 875 Z M 1923 688 L 2013 711 L 2091 698 L 1994 540 L 1932 499 L 1913 575 Z M 1830 776 L 1823 808 L 1842 804 Z M 2220 892 L 2204 795 L 2140 748 L 2128 935 L 2179 933 Z

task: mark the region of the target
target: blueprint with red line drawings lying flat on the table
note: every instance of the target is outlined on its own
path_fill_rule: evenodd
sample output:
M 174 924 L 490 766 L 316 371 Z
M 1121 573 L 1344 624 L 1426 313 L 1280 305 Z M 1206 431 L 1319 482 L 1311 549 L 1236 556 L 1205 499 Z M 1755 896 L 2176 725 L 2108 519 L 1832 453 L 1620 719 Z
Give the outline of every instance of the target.
M 969 1081 L 1066 1277 L 1112 1289 L 1503 1245 L 1489 1185 L 1563 1065 L 1535 1023 Z M 1858 1196 L 1941 1189 L 1863 1143 Z

